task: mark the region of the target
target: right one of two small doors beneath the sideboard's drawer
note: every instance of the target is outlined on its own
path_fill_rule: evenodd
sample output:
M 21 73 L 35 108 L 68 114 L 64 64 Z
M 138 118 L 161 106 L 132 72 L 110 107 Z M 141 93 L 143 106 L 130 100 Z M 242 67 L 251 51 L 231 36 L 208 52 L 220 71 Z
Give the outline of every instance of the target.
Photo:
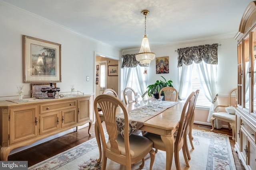
M 61 111 L 61 127 L 67 127 L 76 123 L 76 108 Z

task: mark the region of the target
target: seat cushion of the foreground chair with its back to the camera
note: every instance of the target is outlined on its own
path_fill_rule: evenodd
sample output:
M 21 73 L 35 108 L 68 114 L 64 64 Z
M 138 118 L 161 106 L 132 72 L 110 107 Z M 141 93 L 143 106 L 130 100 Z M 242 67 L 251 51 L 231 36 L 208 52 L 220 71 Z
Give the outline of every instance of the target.
M 124 138 L 119 133 L 117 136 L 116 141 L 118 142 L 118 148 L 122 155 L 125 155 L 125 146 L 124 146 Z M 152 148 L 153 142 L 147 139 L 146 137 L 131 134 L 129 136 L 129 142 L 130 142 L 130 154 L 131 157 L 135 157 L 137 155 L 140 155 L 144 150 L 147 150 L 148 148 Z M 107 148 L 110 149 L 110 141 L 107 142 Z

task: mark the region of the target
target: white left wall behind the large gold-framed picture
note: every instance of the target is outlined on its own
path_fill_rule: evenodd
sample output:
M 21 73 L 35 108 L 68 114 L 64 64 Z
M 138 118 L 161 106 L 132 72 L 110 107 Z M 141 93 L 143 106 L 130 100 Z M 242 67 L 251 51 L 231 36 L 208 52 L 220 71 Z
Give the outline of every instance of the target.
M 90 23 L 88 23 L 90 24 Z M 85 94 L 94 93 L 94 51 L 120 58 L 120 49 L 35 16 L 0 1 L 0 100 L 17 96 L 16 85 L 24 85 L 24 97 L 30 96 L 30 83 L 23 83 L 22 35 L 62 45 L 60 92 L 69 92 L 70 84 Z M 86 76 L 90 81 L 86 81 Z M 16 97 L 17 98 L 17 97 Z

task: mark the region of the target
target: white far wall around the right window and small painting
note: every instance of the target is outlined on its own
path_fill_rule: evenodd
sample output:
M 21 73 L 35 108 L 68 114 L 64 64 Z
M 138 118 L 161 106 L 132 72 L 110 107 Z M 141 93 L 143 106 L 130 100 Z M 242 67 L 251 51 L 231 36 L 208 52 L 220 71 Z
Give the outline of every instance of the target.
M 156 74 L 156 60 L 151 61 L 148 67 L 148 84 L 153 84 L 156 80 L 166 79 L 173 81 L 174 88 L 178 89 L 178 53 L 175 51 L 179 48 L 192 47 L 205 44 L 218 43 L 218 94 L 228 94 L 228 92 L 237 87 L 237 42 L 229 37 L 215 37 L 208 39 L 201 39 L 190 42 L 175 43 L 170 45 L 162 45 L 157 47 L 150 47 L 151 52 L 156 53 L 156 57 L 169 56 L 169 73 Z M 150 40 L 149 40 L 150 43 Z M 123 51 L 123 55 L 138 53 L 139 49 L 128 49 Z

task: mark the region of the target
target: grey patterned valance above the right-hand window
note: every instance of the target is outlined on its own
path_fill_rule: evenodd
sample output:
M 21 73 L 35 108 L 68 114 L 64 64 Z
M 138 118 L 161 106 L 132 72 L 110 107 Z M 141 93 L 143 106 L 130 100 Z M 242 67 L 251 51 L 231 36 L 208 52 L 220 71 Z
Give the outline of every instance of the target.
M 186 47 L 178 49 L 178 67 L 185 65 L 190 65 L 193 63 L 201 63 L 202 60 L 206 64 L 218 64 L 218 44 L 206 44 L 194 47 Z

